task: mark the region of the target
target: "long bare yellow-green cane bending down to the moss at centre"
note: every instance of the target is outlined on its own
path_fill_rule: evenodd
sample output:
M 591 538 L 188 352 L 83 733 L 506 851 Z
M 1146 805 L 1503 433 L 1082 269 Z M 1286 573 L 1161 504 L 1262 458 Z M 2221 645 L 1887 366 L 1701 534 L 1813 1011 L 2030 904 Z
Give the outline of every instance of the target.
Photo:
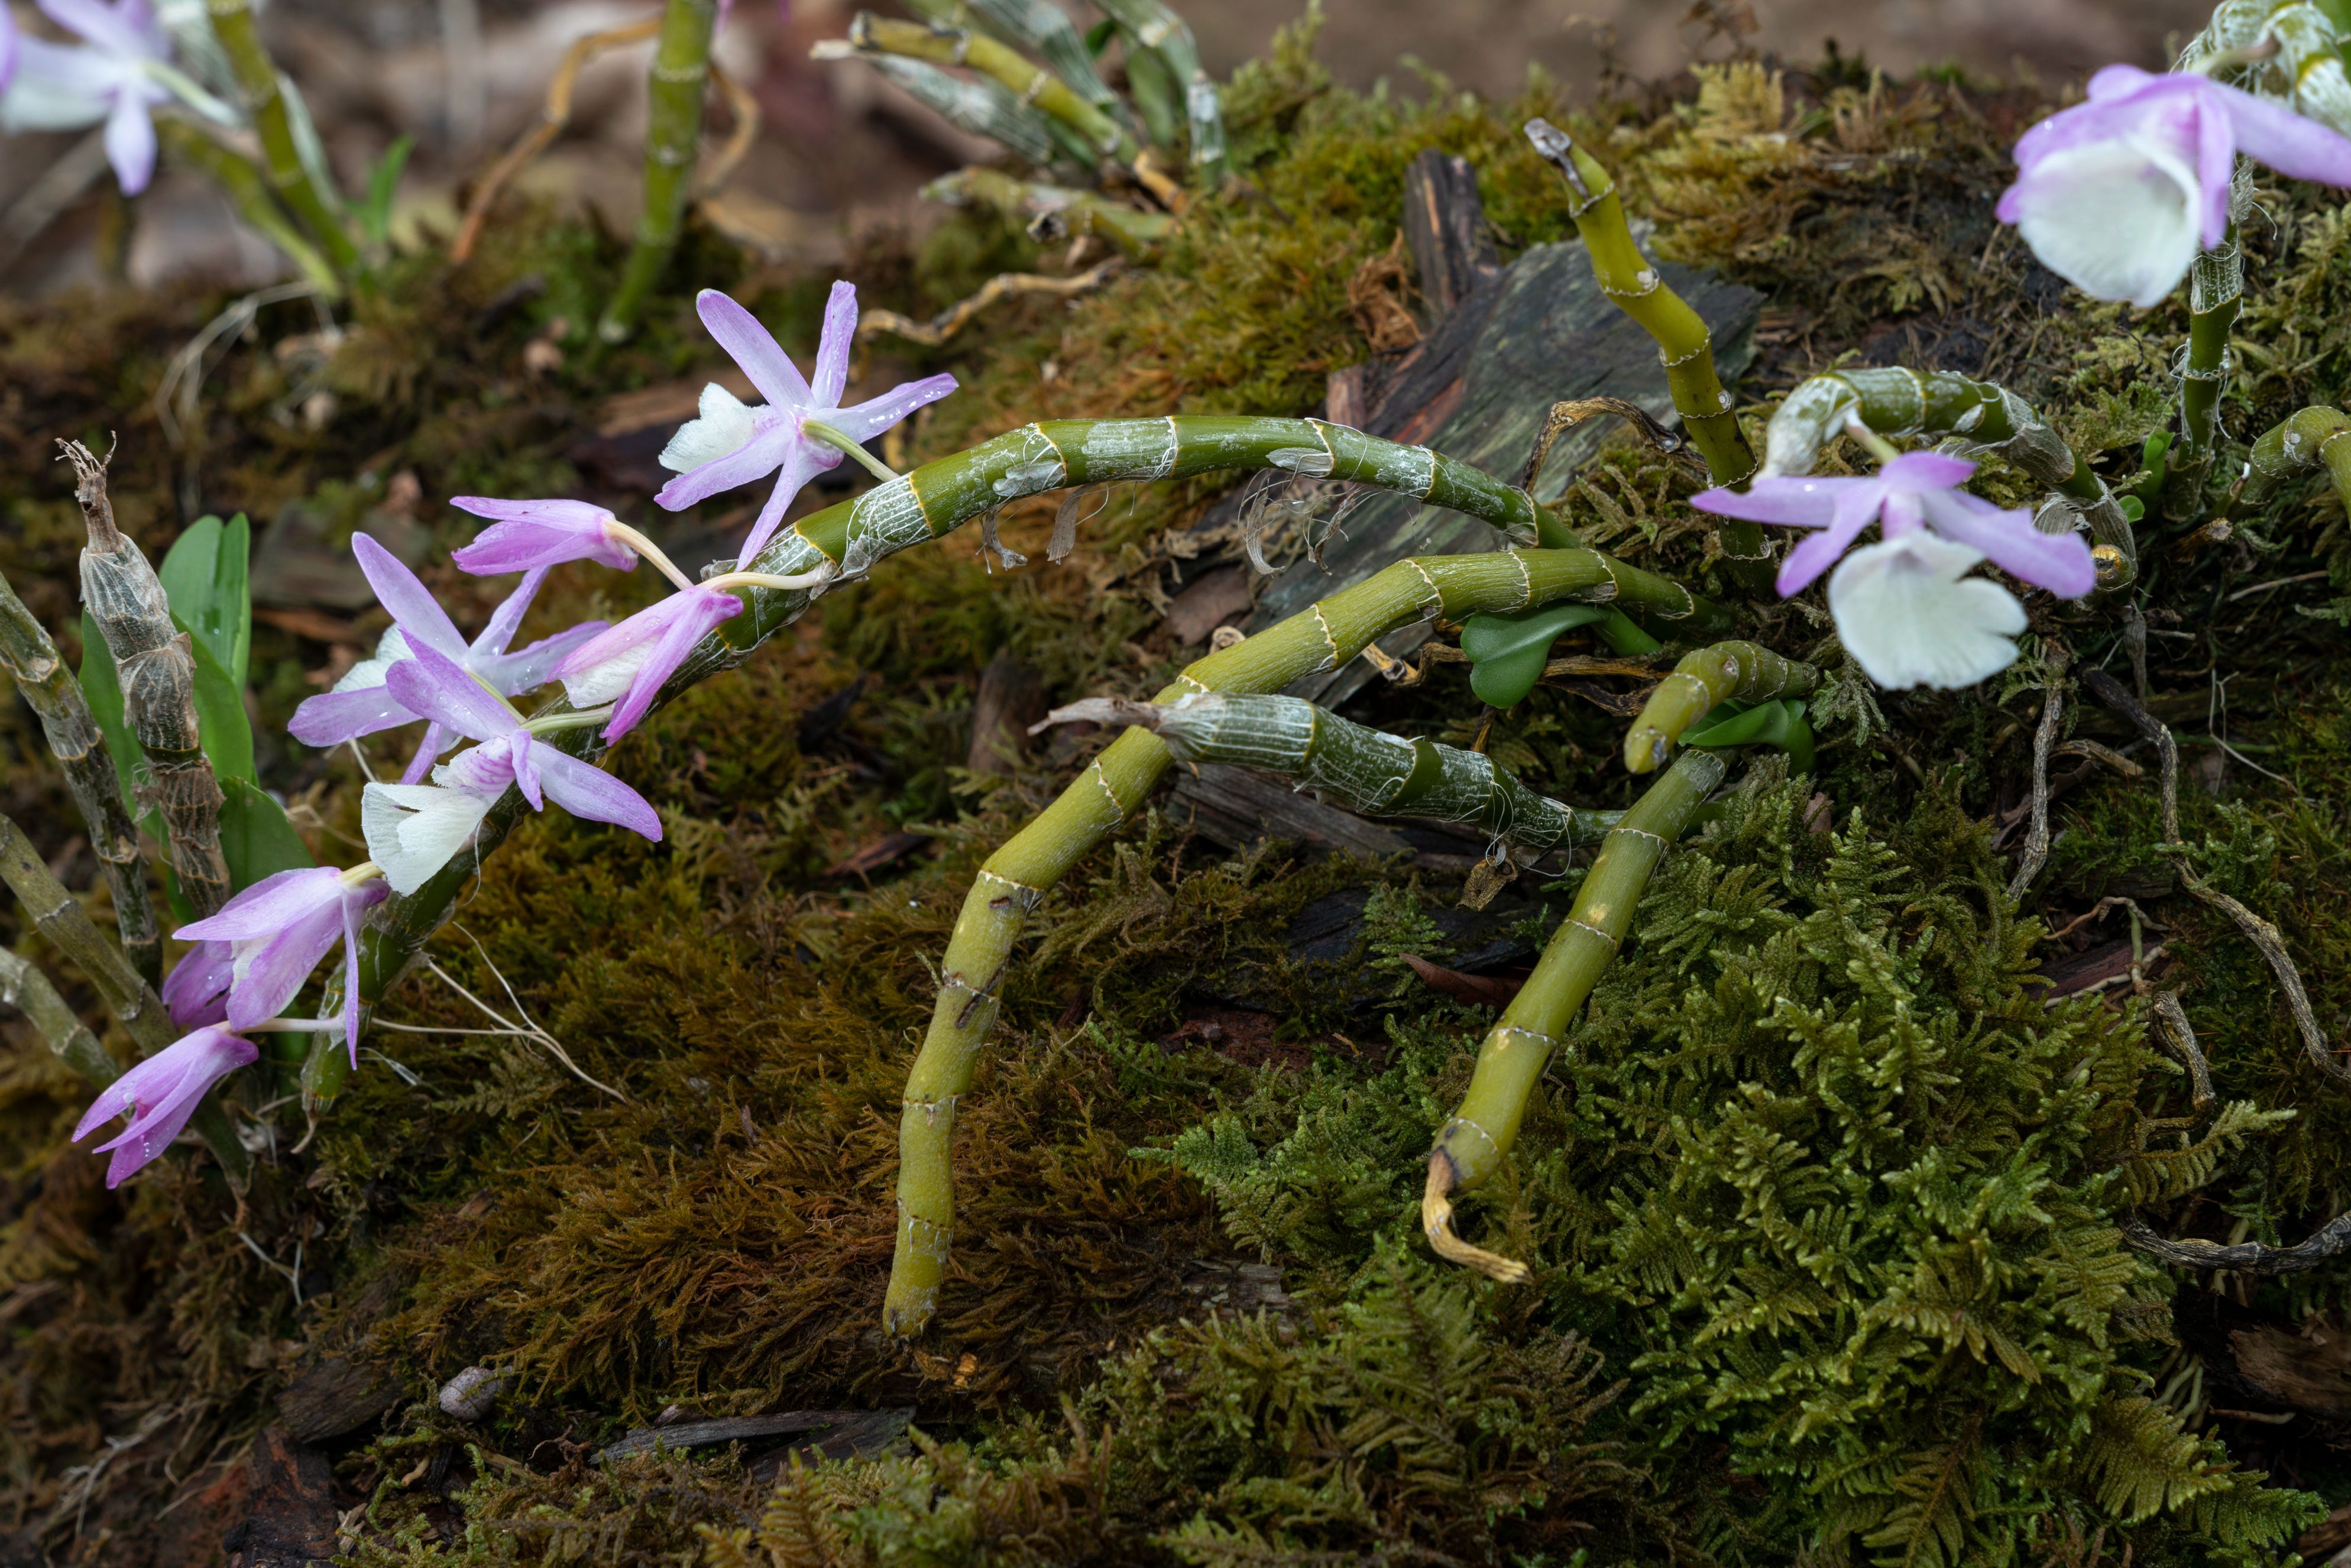
M 1672 585 L 1646 592 L 1660 588 L 1681 592 Z M 1371 639 L 1429 614 L 1458 621 L 1552 599 L 1610 599 L 1620 590 L 1622 569 L 1589 550 L 1404 559 L 1248 642 L 1211 654 L 1154 701 L 1173 703 L 1187 691 L 1279 691 L 1300 675 L 1335 670 Z M 987 858 L 964 898 L 940 964 L 931 1032 L 907 1077 L 898 1124 L 898 1258 L 882 1309 L 891 1333 L 919 1331 L 938 1305 L 955 1234 L 955 1103 L 971 1088 L 1023 917 L 1143 804 L 1168 762 L 1164 741 L 1126 731 L 1060 799 Z

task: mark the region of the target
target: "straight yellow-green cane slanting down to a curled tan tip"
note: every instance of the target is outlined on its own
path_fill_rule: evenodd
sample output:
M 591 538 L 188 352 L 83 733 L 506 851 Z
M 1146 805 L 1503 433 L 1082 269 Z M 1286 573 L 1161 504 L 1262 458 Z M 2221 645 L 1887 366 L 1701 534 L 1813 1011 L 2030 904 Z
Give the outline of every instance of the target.
M 1429 1152 L 1420 1222 L 1441 1258 L 1502 1284 L 1528 1279 L 1523 1262 L 1498 1258 L 1455 1234 L 1448 1197 L 1481 1185 L 1509 1157 L 1552 1051 L 1632 931 L 1632 914 L 1650 872 L 1665 858 L 1667 844 L 1681 837 L 1690 813 L 1723 780 L 1726 769 L 1716 752 L 1683 752 L 1601 839 L 1566 924 L 1542 950 L 1535 973 L 1512 997 L 1502 1020 L 1486 1034 L 1469 1093 L 1436 1133 L 1436 1147 Z

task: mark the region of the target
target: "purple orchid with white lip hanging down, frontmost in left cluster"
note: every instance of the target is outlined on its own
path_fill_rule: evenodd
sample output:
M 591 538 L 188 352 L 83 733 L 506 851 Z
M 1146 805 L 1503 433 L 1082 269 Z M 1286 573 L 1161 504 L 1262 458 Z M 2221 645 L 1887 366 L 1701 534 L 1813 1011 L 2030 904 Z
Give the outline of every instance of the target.
M 458 752 L 433 771 L 444 792 L 480 802 L 480 809 L 473 811 L 473 823 L 480 823 L 482 811 L 505 795 L 505 785 L 515 785 L 534 811 L 545 811 L 545 804 L 552 799 L 571 816 L 628 827 L 656 844 L 661 842 L 661 816 L 642 795 L 569 752 L 534 743 L 531 731 L 522 724 L 522 715 L 484 691 L 456 661 L 433 649 L 416 649 L 414 658 L 393 665 L 388 682 L 393 696 L 416 712 L 482 743 Z M 388 795 L 393 788 L 416 790 L 416 785 L 369 785 L 367 795 L 383 792 L 379 795 L 383 804 L 374 806 L 379 823 L 404 827 L 404 823 L 388 818 L 386 809 L 402 806 L 402 799 L 416 797 Z M 414 804 L 404 809 L 416 811 Z M 362 820 L 369 818 L 369 811 L 362 804 Z M 454 842 L 447 837 L 451 816 L 437 818 L 433 832 L 418 837 L 414 844 L 409 844 L 411 835 L 407 832 L 395 832 L 386 844 L 379 844 L 374 832 L 369 835 L 369 853 L 376 856 L 376 865 L 383 867 L 386 879 L 395 889 L 414 891 L 456 853 L 456 846 L 463 844 L 463 832 Z M 465 832 L 470 830 L 473 825 L 468 823 Z M 433 849 L 442 851 L 437 860 L 430 858 Z

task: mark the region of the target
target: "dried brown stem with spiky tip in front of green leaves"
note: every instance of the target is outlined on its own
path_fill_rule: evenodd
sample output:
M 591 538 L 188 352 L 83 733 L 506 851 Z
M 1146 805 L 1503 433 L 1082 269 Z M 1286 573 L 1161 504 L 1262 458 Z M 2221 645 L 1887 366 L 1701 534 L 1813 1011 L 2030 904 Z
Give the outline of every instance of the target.
M 141 806 L 162 811 L 179 891 L 202 919 L 228 903 L 221 858 L 221 780 L 195 722 L 195 656 L 172 625 L 172 602 L 139 545 L 115 527 L 106 461 L 80 442 L 59 442 L 75 473 L 75 501 L 89 524 L 82 550 L 82 607 L 115 656 L 122 717 L 146 752 Z

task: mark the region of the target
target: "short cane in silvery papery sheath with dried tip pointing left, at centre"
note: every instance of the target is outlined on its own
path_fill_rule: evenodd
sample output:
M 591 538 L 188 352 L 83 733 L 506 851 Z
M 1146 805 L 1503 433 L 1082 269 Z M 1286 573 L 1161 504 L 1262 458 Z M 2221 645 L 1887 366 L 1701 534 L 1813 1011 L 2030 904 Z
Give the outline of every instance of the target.
M 1531 851 L 1594 842 L 1617 816 L 1535 795 L 1481 752 L 1389 736 L 1295 696 L 1197 691 L 1164 705 L 1091 698 L 1049 717 L 1070 719 L 1138 724 L 1159 736 L 1176 762 L 1279 773 L 1349 811 L 1460 823 Z

